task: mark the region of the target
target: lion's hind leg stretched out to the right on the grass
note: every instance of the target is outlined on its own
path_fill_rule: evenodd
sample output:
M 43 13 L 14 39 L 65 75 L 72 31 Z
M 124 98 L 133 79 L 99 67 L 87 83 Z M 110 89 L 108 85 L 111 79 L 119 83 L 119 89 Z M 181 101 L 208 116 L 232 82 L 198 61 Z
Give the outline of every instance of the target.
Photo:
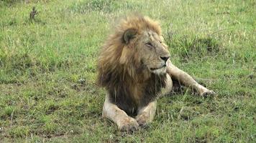
M 172 78 L 177 79 L 178 82 L 185 84 L 188 87 L 192 87 L 193 89 L 196 89 L 196 92 L 198 92 L 198 94 L 201 96 L 215 94 L 212 90 L 206 89 L 206 87 L 198 84 L 190 75 L 188 75 L 185 71 L 178 69 L 178 67 L 171 64 L 170 61 L 168 61 L 167 72 Z

